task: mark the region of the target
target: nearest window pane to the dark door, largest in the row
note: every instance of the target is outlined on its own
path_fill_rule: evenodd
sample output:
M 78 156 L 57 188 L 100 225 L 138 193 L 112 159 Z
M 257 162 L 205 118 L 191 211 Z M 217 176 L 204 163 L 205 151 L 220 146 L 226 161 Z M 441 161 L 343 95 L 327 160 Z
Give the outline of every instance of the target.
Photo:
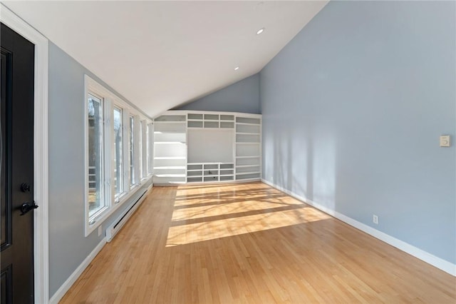
M 88 95 L 88 217 L 105 208 L 103 187 L 103 99 Z

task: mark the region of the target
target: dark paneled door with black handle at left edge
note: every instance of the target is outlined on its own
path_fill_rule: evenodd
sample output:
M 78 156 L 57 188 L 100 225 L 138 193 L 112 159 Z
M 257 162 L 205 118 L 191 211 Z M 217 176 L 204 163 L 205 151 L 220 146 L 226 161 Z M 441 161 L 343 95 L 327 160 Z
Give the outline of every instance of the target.
M 1 303 L 33 303 L 35 46 L 0 26 Z

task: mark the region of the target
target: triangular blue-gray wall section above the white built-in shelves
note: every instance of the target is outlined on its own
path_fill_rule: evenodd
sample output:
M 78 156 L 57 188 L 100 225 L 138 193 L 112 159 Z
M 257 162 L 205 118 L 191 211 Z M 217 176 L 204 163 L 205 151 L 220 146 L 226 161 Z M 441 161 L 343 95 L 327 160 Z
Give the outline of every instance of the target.
M 224 111 L 259 114 L 259 74 L 242 79 L 175 110 Z

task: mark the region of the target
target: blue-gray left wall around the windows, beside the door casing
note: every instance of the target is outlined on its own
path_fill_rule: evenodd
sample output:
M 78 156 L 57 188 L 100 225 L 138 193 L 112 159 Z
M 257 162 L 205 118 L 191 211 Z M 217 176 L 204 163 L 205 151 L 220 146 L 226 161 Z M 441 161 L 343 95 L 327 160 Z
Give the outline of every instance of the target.
M 96 76 L 49 43 L 49 295 L 95 248 L 130 202 L 84 237 L 84 74 Z M 109 88 L 109 86 L 106 86 Z

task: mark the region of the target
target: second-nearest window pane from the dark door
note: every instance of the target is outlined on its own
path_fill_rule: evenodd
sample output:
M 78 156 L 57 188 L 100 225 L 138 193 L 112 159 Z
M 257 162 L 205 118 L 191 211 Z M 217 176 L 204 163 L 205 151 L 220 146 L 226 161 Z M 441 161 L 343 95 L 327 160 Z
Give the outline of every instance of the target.
M 123 126 L 122 109 L 113 110 L 114 124 L 114 193 L 118 198 L 123 193 Z

